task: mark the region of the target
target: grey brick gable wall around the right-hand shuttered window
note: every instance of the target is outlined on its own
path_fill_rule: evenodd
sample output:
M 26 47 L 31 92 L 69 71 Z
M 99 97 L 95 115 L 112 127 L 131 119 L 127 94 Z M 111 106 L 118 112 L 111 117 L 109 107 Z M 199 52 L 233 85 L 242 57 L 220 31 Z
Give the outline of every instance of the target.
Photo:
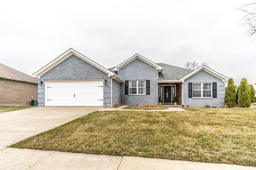
M 217 83 L 217 98 L 188 98 L 188 83 L 203 82 Z M 206 105 L 210 105 L 210 107 L 224 107 L 224 97 L 225 83 L 222 82 L 221 79 L 211 75 L 210 73 L 207 73 L 204 70 L 199 71 L 184 81 L 184 107 L 186 107 L 186 105 L 189 105 L 190 107 L 205 107 Z

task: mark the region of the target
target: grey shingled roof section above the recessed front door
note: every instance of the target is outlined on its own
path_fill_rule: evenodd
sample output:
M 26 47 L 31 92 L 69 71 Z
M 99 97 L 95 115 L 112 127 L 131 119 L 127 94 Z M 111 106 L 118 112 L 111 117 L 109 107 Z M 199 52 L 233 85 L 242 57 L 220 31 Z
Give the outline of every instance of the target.
M 164 81 L 168 82 L 180 82 L 180 79 L 189 73 L 192 72 L 192 70 L 184 69 L 181 67 L 176 67 L 173 65 L 168 65 L 164 63 L 157 63 L 161 67 L 163 67 L 162 73 L 158 74 L 158 82 L 164 83 Z

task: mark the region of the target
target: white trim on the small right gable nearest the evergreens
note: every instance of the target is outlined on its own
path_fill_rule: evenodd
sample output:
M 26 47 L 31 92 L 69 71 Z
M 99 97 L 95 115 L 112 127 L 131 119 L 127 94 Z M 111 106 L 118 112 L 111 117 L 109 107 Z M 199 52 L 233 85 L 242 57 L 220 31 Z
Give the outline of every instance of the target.
M 204 70 L 207 73 L 210 73 L 211 75 L 214 75 L 215 77 L 218 77 L 219 79 L 222 80 L 222 82 L 228 81 L 228 77 L 226 77 L 226 76 L 224 76 L 224 75 L 214 71 L 213 69 L 210 69 L 209 67 L 206 67 L 205 65 L 202 65 L 201 67 L 199 67 L 198 69 L 192 71 L 191 73 L 189 73 L 188 75 L 186 75 L 185 77 L 183 77 L 180 80 L 184 81 L 185 79 L 188 79 L 189 77 L 191 77 L 192 75 L 198 73 L 201 70 Z

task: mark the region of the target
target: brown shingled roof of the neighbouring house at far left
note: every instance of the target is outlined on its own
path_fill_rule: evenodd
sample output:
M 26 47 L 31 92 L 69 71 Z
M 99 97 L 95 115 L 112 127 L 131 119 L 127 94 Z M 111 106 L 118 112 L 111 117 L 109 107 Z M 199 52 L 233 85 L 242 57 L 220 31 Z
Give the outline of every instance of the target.
M 4 64 L 0 63 L 0 79 L 7 79 L 13 81 L 20 81 L 26 83 L 35 83 L 37 84 L 37 80 L 30 75 L 22 73 L 16 69 L 8 67 Z

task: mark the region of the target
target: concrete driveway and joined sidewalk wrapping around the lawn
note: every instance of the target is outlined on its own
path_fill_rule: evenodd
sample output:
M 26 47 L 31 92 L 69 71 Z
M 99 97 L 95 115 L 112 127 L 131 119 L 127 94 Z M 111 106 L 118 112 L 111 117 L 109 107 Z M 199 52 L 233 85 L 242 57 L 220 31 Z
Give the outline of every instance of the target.
M 36 107 L 0 113 L 0 170 L 256 170 L 229 164 L 7 148 L 102 107 Z

